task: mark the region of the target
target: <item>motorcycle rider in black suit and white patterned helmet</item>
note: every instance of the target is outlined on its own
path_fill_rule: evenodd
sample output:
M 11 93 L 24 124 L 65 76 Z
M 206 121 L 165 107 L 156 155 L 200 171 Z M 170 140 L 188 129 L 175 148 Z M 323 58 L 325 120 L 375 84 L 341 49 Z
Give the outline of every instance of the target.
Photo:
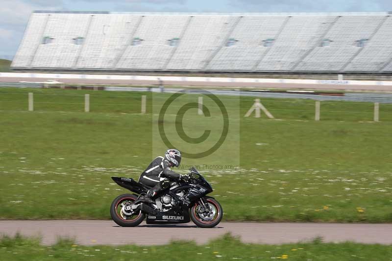
M 168 149 L 165 157 L 156 157 L 140 175 L 139 183 L 152 187 L 147 191 L 146 196 L 140 196 L 139 199 L 150 204 L 161 191 L 170 187 L 170 183 L 175 180 L 188 180 L 188 175 L 181 175 L 171 170 L 173 166 L 180 166 L 181 153 L 176 149 Z

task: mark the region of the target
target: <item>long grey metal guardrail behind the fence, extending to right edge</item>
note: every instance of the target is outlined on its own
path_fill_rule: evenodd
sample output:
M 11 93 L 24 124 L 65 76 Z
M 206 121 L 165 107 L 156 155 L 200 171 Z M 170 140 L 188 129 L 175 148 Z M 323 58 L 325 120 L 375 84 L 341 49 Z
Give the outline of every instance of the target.
M 159 88 L 132 88 L 132 87 L 105 87 L 105 91 L 116 92 L 160 92 Z M 180 89 L 165 88 L 165 93 L 175 93 Z M 331 95 L 312 95 L 312 94 L 290 94 L 290 93 L 268 93 L 250 91 L 221 91 L 221 90 L 194 90 L 187 89 L 189 94 L 214 94 L 231 96 L 252 96 L 268 98 L 294 98 L 294 99 L 313 99 L 313 100 L 336 100 L 336 101 L 362 101 L 362 102 L 381 102 L 392 103 L 392 94 L 368 94 L 368 93 L 346 93 L 344 96 Z

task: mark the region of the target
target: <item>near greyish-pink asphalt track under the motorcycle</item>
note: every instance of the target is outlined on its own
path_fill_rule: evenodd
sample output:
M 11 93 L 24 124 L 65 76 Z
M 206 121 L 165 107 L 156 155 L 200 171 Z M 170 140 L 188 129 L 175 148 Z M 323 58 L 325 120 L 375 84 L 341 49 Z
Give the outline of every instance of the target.
M 160 245 L 172 239 L 209 239 L 230 232 L 243 242 L 281 244 L 311 240 L 317 236 L 327 242 L 355 241 L 360 243 L 392 244 L 392 224 L 321 224 L 321 223 L 220 223 L 211 229 L 197 228 L 193 223 L 179 225 L 146 225 L 119 227 L 108 220 L 3 220 L 0 234 L 42 236 L 44 244 L 56 238 L 75 237 L 79 244 L 138 244 Z

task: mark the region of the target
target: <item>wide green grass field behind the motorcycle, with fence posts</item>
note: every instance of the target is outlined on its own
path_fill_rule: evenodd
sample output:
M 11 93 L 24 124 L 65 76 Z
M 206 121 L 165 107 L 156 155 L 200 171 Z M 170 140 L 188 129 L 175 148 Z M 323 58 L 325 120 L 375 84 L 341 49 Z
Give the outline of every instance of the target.
M 28 92 L 34 92 L 34 112 L 27 112 Z M 83 112 L 87 93 L 90 113 Z M 141 95 L 147 95 L 146 115 L 140 114 Z M 165 150 L 156 126 L 167 97 L 1 89 L 0 218 L 110 218 L 111 201 L 127 192 L 110 176 L 137 179 Z M 200 169 L 224 220 L 392 222 L 391 105 L 380 105 L 381 122 L 374 123 L 370 103 L 321 102 L 316 122 L 311 100 L 262 99 L 277 119 L 271 120 L 243 118 L 251 97 L 220 98 L 230 115 L 226 142 L 211 156 L 182 164 L 239 165 Z M 195 100 L 186 95 L 174 105 Z M 207 99 L 205 105 L 211 118 L 196 116 L 196 109 L 184 116 L 192 137 L 219 129 L 217 108 Z M 169 115 L 164 124 L 176 121 Z M 175 131 L 167 133 L 174 137 Z

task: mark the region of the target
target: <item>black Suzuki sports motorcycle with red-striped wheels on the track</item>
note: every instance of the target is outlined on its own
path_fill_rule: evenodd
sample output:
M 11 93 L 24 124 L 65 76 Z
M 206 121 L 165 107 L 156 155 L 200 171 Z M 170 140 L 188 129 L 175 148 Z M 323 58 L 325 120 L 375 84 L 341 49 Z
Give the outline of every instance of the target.
M 192 167 L 189 180 L 172 182 L 171 187 L 155 199 L 155 204 L 142 202 L 139 195 L 151 189 L 131 178 L 112 177 L 121 187 L 135 194 L 123 194 L 113 200 L 110 214 L 122 227 L 135 227 L 145 218 L 147 224 L 180 224 L 192 221 L 202 228 L 221 222 L 223 210 L 213 197 L 211 185 Z

